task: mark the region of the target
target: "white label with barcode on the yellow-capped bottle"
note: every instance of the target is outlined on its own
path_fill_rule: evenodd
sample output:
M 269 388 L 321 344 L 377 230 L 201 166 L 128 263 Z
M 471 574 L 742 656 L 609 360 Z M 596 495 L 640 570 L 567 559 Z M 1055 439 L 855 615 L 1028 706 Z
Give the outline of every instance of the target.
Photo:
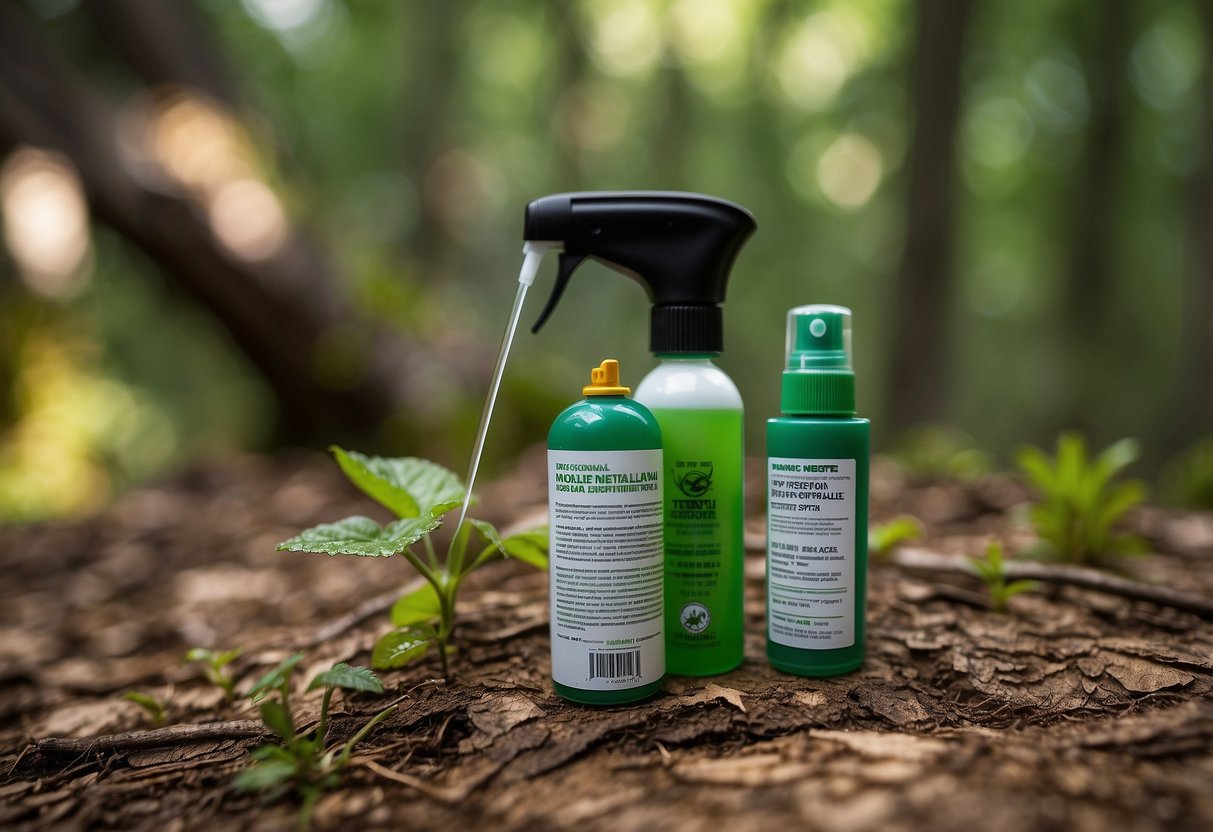
M 552 678 L 626 690 L 666 672 L 661 451 L 547 452 Z

